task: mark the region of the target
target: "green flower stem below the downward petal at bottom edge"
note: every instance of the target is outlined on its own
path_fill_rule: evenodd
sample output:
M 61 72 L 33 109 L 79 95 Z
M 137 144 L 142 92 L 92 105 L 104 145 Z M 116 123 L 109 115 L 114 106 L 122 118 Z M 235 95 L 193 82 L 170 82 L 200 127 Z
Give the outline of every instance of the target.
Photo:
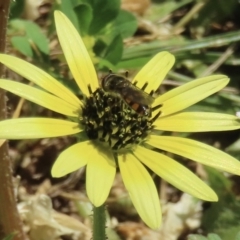
M 106 215 L 105 206 L 93 207 L 93 240 L 106 239 Z

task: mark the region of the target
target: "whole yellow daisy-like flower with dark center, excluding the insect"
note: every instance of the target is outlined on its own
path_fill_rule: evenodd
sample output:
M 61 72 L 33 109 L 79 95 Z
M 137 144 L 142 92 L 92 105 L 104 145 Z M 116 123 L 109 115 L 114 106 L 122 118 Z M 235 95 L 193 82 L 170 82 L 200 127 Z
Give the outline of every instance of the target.
M 6 79 L 0 80 L 1 88 L 71 117 L 71 120 L 35 117 L 3 120 L 0 138 L 47 138 L 85 132 L 87 140 L 72 145 L 59 155 L 52 168 L 53 177 L 86 166 L 87 195 L 95 206 L 100 206 L 108 197 L 117 164 L 135 208 L 151 228 L 160 226 L 161 209 L 155 184 L 145 166 L 184 192 L 203 200 L 217 201 L 216 194 L 207 184 L 159 149 L 238 175 L 240 163 L 211 146 L 181 137 L 161 136 L 157 130 L 238 129 L 238 118 L 232 115 L 182 111 L 222 89 L 229 79 L 215 75 L 189 82 L 156 98 L 151 106 L 152 115 L 142 116 L 119 96 L 103 91 L 73 25 L 61 12 L 55 12 L 55 19 L 64 55 L 84 99 L 79 100 L 32 64 L 1 54 L 0 62 L 43 90 Z M 140 70 L 133 83 L 148 94 L 155 92 L 173 64 L 174 57 L 170 53 L 158 53 Z

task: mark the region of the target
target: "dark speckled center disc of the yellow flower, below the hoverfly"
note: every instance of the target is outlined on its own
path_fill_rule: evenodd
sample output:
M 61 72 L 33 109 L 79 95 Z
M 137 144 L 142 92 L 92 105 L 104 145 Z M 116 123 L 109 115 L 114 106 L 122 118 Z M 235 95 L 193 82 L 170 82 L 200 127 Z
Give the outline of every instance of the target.
M 101 88 L 85 100 L 80 123 L 89 139 L 107 143 L 112 150 L 132 148 L 152 129 L 150 116 L 138 114 L 121 98 Z

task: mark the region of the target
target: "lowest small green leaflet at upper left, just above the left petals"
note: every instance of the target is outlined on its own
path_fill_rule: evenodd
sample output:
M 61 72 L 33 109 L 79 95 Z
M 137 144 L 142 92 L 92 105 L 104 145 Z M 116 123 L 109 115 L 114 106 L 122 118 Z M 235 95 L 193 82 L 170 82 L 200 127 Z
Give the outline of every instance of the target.
M 27 37 L 15 36 L 11 38 L 11 43 L 20 53 L 32 57 L 33 51 Z

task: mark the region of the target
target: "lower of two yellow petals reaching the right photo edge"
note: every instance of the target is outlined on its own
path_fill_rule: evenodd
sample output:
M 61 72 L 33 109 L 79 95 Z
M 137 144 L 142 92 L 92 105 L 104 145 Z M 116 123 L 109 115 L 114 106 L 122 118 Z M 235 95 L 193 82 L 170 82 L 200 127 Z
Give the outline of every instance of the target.
M 187 138 L 151 135 L 147 143 L 196 162 L 240 175 L 240 162 L 207 144 Z

